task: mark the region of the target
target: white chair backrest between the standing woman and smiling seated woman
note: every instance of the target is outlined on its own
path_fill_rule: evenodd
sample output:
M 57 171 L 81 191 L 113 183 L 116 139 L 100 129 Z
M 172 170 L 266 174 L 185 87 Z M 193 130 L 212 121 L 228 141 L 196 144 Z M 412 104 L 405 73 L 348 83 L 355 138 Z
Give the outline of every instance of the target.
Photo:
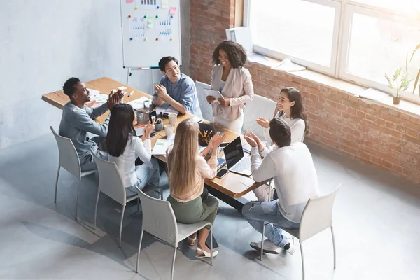
M 264 128 L 258 125 L 256 120 L 260 117 L 266 119 L 273 118 L 276 107 L 277 102 L 254 94 L 253 100 L 246 103 L 244 111 L 244 126 L 242 127 L 242 130 L 249 130 L 261 139 L 264 139 Z

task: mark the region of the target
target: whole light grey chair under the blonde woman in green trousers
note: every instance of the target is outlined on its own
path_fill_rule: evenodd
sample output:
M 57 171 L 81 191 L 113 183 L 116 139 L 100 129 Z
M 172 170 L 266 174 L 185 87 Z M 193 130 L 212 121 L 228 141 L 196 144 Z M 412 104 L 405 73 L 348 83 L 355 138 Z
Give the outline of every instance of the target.
M 143 222 L 141 225 L 139 251 L 137 252 L 136 272 L 139 272 L 141 241 L 145 231 L 174 247 L 174 258 L 172 260 L 171 271 L 171 279 L 174 279 L 176 248 L 178 248 L 179 241 L 186 239 L 194 232 L 201 230 L 207 225 L 210 226 L 210 265 L 213 265 L 213 236 L 211 233 L 211 223 L 206 221 L 190 225 L 177 223 L 174 210 L 168 201 L 156 200 L 153 197 L 149 197 L 139 190 L 139 188 L 137 188 L 137 193 L 139 193 L 141 200 Z

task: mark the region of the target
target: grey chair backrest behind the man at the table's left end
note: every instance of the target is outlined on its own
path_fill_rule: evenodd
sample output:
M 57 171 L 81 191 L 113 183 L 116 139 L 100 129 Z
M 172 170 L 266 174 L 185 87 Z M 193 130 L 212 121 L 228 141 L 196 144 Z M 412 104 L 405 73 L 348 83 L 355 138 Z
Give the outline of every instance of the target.
M 82 173 L 80 171 L 80 160 L 78 158 L 76 148 L 74 148 L 73 142 L 70 138 L 58 135 L 52 127 L 50 127 L 50 129 L 52 134 L 54 134 L 55 141 L 57 141 L 59 166 L 66 169 L 80 180 Z

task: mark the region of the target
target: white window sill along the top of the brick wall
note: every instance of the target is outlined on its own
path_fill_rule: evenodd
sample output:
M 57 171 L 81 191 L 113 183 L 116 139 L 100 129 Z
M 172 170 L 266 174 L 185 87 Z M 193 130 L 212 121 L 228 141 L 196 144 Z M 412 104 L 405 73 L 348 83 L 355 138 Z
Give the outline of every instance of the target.
M 280 60 L 274 59 L 272 57 L 266 57 L 268 60 L 267 62 L 251 62 L 251 63 L 258 63 L 265 66 L 271 67 L 274 64 L 279 64 Z M 275 70 L 274 71 L 280 71 Z M 302 71 L 286 71 L 290 76 L 295 76 L 297 78 L 302 78 L 312 83 L 318 83 L 319 85 L 323 85 L 325 87 L 330 87 L 333 90 L 339 90 L 341 92 L 346 92 L 354 97 L 359 97 L 359 94 L 362 94 L 367 90 L 366 87 L 361 85 L 356 85 L 353 83 L 346 82 L 345 80 L 339 80 L 337 78 L 333 78 L 331 76 L 327 76 L 323 73 L 318 73 L 313 70 L 304 69 Z M 386 94 L 386 93 L 384 93 Z M 409 113 L 409 115 L 414 116 L 414 118 L 420 118 L 420 104 L 416 104 L 414 102 L 409 102 L 405 99 L 402 99 L 400 104 L 395 105 L 393 104 L 393 97 L 389 94 L 386 94 L 384 98 L 381 98 L 380 101 L 374 99 L 366 99 L 365 97 L 359 97 L 367 104 L 379 104 L 381 106 L 395 109 L 396 111 L 400 111 L 402 113 Z

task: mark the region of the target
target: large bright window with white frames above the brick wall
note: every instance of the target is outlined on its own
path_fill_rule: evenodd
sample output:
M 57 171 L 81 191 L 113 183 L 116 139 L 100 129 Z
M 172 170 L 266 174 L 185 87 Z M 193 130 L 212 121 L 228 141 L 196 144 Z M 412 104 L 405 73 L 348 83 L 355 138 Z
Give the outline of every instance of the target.
M 248 0 L 244 25 L 255 52 L 366 87 L 393 93 L 384 73 L 419 73 L 420 0 Z M 420 102 L 413 87 L 403 97 Z

